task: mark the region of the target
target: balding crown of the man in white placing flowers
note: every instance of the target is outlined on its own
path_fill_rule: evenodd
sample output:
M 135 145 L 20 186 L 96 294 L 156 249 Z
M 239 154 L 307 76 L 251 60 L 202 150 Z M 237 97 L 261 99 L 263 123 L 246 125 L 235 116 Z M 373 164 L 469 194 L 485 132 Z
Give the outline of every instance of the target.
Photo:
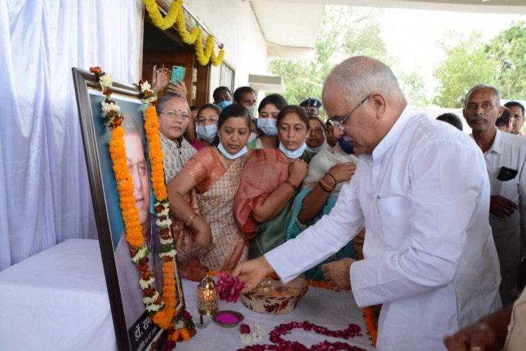
M 349 58 L 332 69 L 323 86 L 323 95 L 332 85 L 344 89 L 348 102 L 356 101 L 372 91 L 405 102 L 391 68 L 367 56 Z

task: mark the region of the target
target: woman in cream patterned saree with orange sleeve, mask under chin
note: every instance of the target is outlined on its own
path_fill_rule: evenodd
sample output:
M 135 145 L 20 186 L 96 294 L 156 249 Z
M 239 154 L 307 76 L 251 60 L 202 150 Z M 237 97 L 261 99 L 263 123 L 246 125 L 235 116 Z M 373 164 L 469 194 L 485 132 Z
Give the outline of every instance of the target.
M 234 223 L 232 208 L 251 152 L 249 123 L 245 107 L 226 107 L 217 122 L 217 146 L 203 147 L 168 183 L 170 211 L 178 220 L 177 258 L 187 279 L 202 279 L 203 265 L 232 270 L 247 257 L 250 236 Z

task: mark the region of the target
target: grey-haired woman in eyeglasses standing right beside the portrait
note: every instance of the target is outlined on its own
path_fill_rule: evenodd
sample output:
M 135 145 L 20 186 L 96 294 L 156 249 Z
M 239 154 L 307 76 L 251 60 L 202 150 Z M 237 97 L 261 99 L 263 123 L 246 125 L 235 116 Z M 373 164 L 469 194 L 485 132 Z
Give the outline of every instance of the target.
M 191 112 L 187 99 L 178 93 L 162 95 L 157 100 L 156 110 L 161 132 L 164 176 L 168 182 L 196 154 L 196 149 L 183 138 Z

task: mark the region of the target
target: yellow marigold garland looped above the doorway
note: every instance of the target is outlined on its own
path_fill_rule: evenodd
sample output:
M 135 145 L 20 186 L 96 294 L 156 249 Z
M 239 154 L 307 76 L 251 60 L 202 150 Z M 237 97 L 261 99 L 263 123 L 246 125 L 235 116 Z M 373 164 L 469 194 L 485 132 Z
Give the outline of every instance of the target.
M 203 29 L 196 26 L 192 28 L 190 32 L 187 31 L 187 25 L 184 23 L 182 0 L 174 0 L 173 3 L 170 4 L 170 8 L 165 17 L 163 17 L 161 11 L 159 11 L 155 0 L 143 1 L 151 18 L 151 22 L 153 22 L 156 27 L 166 30 L 175 23 L 175 28 L 182 41 L 195 46 L 197 61 L 200 65 L 208 65 L 208 62 L 212 62 L 214 66 L 221 65 L 224 58 L 224 50 L 222 46 L 220 46 L 219 55 L 215 55 L 214 36 L 210 34 L 206 38 L 206 44 L 203 50 Z

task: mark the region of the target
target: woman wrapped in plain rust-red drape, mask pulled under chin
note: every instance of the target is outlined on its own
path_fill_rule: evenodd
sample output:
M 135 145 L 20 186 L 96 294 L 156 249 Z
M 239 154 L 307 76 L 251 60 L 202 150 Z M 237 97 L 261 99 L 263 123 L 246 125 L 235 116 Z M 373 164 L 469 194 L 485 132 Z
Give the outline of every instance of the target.
M 306 151 L 309 119 L 303 107 L 283 107 L 277 118 L 279 147 L 255 150 L 243 169 L 234 199 L 234 218 L 256 258 L 285 241 L 292 202 L 313 153 Z

